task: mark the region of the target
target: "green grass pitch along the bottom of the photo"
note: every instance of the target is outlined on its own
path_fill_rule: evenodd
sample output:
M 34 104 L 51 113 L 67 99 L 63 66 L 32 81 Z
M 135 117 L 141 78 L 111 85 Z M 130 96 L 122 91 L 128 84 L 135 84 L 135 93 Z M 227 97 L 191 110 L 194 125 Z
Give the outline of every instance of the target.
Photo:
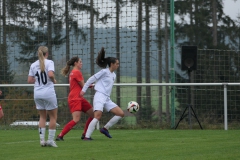
M 57 133 L 60 131 L 58 130 Z M 37 130 L 0 130 L 1 160 L 234 160 L 240 157 L 240 130 L 94 131 L 82 141 L 72 130 L 58 148 L 40 147 Z

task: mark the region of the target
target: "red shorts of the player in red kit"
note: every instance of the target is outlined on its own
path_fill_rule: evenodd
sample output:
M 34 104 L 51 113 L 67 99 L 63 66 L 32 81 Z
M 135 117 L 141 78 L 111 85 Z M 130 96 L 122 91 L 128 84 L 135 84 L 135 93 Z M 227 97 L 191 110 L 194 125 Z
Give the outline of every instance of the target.
M 82 111 L 86 113 L 89 109 L 92 108 L 91 104 L 84 98 L 79 100 L 69 100 L 68 106 L 71 113 L 75 111 Z

